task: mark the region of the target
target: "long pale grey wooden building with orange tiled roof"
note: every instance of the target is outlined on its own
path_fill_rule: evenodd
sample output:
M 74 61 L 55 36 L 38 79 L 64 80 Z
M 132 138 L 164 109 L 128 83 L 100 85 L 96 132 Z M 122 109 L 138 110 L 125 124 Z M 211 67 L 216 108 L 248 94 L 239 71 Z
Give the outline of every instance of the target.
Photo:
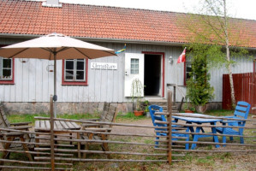
M 0 11 L 1 46 L 51 32 L 60 32 L 116 51 L 127 44 L 126 50 L 118 56 L 82 62 L 57 61 L 60 113 L 85 113 L 86 103 L 128 103 L 131 101 L 131 81 L 136 77 L 146 85 L 145 98 L 149 100 L 164 99 L 168 83 L 182 85 L 179 87 L 186 93 L 186 63 L 176 64 L 185 40 L 181 31 L 171 27 L 176 15 L 184 14 L 68 3 L 52 8 L 43 6 L 41 2 L 12 0 L 0 0 Z M 255 30 L 256 21 L 244 22 Z M 253 33 L 249 50 L 255 56 L 256 33 Z M 241 59 L 237 63 L 233 67 L 234 74 L 255 69 L 253 59 Z M 0 100 L 6 104 L 7 110 L 10 113 L 47 112 L 50 95 L 53 94 L 53 62 L 1 58 L 1 64 Z M 80 64 L 83 67 L 78 67 Z M 211 69 L 210 73 L 211 85 L 215 89 L 215 98 L 211 102 L 220 108 L 222 77 L 227 71 L 224 68 Z M 176 93 L 176 101 L 179 102 L 182 93 Z

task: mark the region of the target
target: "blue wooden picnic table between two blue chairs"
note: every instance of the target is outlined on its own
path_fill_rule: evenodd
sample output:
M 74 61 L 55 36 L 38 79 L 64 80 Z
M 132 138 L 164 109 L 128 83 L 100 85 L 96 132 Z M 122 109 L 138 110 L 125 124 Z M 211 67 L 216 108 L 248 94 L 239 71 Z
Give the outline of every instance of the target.
M 172 117 L 175 119 L 175 122 L 178 122 L 179 120 L 186 121 L 188 124 L 196 123 L 198 124 L 198 127 L 196 127 L 195 131 L 193 127 L 189 127 L 189 130 L 191 133 L 205 133 L 202 124 L 203 123 L 210 123 L 211 125 L 216 125 L 217 121 L 223 121 L 221 119 L 217 119 L 215 116 L 211 115 L 204 115 L 204 114 L 196 114 L 196 113 L 179 113 L 179 115 L 182 116 L 176 116 L 172 115 Z M 189 117 L 193 116 L 193 117 Z M 209 117 L 209 118 L 200 118 L 200 117 Z M 211 133 L 217 133 L 216 127 L 211 127 Z M 202 134 L 192 134 L 193 136 L 193 142 L 198 142 L 199 138 L 205 138 L 205 137 L 213 137 L 213 141 L 215 143 L 218 143 L 217 135 L 202 135 Z M 196 144 L 191 145 L 191 149 L 195 149 Z M 215 144 L 215 147 L 218 148 L 219 144 Z

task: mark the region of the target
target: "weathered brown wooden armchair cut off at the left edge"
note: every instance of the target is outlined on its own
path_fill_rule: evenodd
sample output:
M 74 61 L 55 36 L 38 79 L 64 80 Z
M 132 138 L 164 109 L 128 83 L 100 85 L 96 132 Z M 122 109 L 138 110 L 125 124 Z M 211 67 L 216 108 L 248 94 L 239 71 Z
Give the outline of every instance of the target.
M 21 130 L 21 131 L 28 131 L 31 126 L 28 126 L 28 124 L 31 122 L 21 122 L 21 123 L 9 123 L 4 110 L 3 110 L 3 104 L 0 104 L 0 127 L 6 128 L 6 129 L 13 129 L 13 130 Z M 11 132 L 11 131 L 4 131 L 0 130 L 0 139 L 2 140 L 3 144 L 3 159 L 9 157 L 9 148 L 15 148 L 17 145 L 11 146 L 11 141 L 22 141 L 22 142 L 30 142 L 31 136 L 28 133 L 17 133 L 17 132 Z M 6 142 L 8 141 L 8 142 Z M 21 144 L 24 150 L 28 150 L 30 145 L 27 144 Z M 28 159 L 32 162 L 33 158 L 31 154 L 26 153 Z

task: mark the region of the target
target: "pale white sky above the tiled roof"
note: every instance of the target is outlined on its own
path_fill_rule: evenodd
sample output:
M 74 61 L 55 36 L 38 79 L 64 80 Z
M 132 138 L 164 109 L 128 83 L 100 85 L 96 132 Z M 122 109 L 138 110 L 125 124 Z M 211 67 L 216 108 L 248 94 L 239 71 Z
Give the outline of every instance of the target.
M 40 0 L 38 0 L 40 1 Z M 132 9 L 153 9 L 194 13 L 200 0 L 60 0 L 62 3 L 82 3 Z M 256 21 L 256 0 L 227 0 L 229 16 Z

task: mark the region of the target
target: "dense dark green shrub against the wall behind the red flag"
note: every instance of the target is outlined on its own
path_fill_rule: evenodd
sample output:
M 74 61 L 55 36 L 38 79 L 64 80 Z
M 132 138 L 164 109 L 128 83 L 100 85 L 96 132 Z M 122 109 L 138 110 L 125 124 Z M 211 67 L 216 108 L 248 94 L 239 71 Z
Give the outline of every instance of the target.
M 191 62 L 192 72 L 187 80 L 187 96 L 190 103 L 198 113 L 204 113 L 206 103 L 214 97 L 213 87 L 210 85 L 210 74 L 208 74 L 206 56 L 193 53 Z

